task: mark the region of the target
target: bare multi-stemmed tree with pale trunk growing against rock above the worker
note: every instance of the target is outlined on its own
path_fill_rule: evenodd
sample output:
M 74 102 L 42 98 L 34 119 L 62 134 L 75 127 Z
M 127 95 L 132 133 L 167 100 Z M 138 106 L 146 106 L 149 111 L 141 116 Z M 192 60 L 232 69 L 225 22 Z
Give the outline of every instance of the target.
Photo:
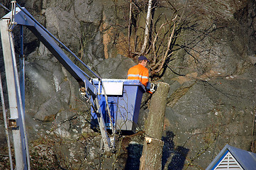
M 135 59 L 147 55 L 151 60 L 151 78 L 162 77 L 179 50 L 196 64 L 200 64 L 196 56 L 211 52 L 201 49 L 200 42 L 214 30 L 213 24 L 199 26 L 194 20 L 197 7 L 191 7 L 189 1 L 174 6 L 168 0 L 132 0 L 129 5 L 128 56 Z

